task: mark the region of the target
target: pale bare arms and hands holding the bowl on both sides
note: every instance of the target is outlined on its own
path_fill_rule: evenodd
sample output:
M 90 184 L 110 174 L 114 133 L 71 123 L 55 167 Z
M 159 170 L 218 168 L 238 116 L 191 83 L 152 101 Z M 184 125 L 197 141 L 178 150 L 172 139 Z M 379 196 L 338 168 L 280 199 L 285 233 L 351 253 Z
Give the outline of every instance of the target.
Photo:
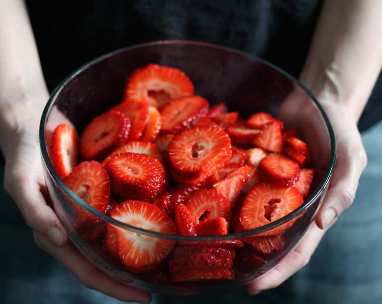
M 333 125 L 338 149 L 333 180 L 304 239 L 274 269 L 248 285 L 251 295 L 277 287 L 305 266 L 325 231 L 354 201 L 367 163 L 357 121 L 382 67 L 381 14 L 382 1 L 377 0 L 328 0 L 323 6 L 300 80 L 321 102 Z M 38 125 L 48 96 L 23 1 L 1 0 L 4 188 L 33 230 L 36 244 L 82 284 L 122 301 L 149 303 L 149 294 L 112 280 L 90 264 L 71 245 L 45 200 Z

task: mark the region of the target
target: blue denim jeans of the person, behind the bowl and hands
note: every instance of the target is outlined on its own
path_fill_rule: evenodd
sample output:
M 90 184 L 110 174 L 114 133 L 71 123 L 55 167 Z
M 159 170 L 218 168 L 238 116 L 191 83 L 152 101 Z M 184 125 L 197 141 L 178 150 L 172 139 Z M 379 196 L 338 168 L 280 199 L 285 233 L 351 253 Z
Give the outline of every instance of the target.
M 211 297 L 153 297 L 155 304 L 381 304 L 382 122 L 362 136 L 368 167 L 355 203 L 326 233 L 309 264 L 280 287 L 249 297 L 245 290 Z M 2 184 L 3 168 L 0 169 Z M 78 283 L 33 242 L 17 207 L 0 190 L 0 303 L 116 304 Z

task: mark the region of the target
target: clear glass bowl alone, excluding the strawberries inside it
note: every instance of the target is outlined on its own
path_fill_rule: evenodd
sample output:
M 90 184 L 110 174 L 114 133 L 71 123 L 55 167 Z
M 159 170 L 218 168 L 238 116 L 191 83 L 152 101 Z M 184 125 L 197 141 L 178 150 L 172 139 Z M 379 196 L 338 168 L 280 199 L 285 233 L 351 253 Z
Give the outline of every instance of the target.
M 181 69 L 191 79 L 195 94 L 211 105 L 225 101 L 230 111 L 249 117 L 268 111 L 282 119 L 286 127 L 297 129 L 311 151 L 311 167 L 317 169 L 310 195 L 285 217 L 266 226 L 226 236 L 189 237 L 166 235 L 136 228 L 100 213 L 79 199 L 58 177 L 49 159 L 50 134 L 55 126 L 71 121 L 81 133 L 93 117 L 122 100 L 129 75 L 149 63 Z M 51 95 L 41 118 L 40 146 L 45 181 L 56 213 L 79 251 L 101 271 L 126 285 L 166 295 L 206 294 L 227 291 L 246 284 L 267 272 L 301 240 L 314 219 L 328 188 L 334 163 L 335 140 L 330 122 L 315 98 L 295 79 L 259 58 L 226 47 L 191 42 L 159 41 L 137 45 L 99 57 L 65 79 Z M 72 203 L 70 203 L 72 202 Z M 73 204 L 76 204 L 73 207 Z M 99 236 L 90 240 L 76 223 L 76 213 L 89 212 L 96 218 Z M 174 283 L 167 272 L 172 254 L 154 271 L 135 274 L 115 261 L 104 246 L 105 222 L 148 239 L 162 239 L 175 246 L 240 243 L 235 251 L 234 278 Z M 267 231 L 286 225 L 276 237 Z M 261 250 L 271 243 L 272 250 Z

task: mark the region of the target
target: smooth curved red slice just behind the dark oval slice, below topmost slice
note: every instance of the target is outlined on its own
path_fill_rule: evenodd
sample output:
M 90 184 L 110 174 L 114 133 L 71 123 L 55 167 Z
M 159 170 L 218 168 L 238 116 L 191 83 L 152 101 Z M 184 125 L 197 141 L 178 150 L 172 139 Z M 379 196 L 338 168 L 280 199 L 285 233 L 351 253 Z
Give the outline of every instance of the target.
M 123 101 L 111 108 L 129 117 L 131 129 L 129 140 L 138 140 L 149 120 L 149 107 L 144 101 Z

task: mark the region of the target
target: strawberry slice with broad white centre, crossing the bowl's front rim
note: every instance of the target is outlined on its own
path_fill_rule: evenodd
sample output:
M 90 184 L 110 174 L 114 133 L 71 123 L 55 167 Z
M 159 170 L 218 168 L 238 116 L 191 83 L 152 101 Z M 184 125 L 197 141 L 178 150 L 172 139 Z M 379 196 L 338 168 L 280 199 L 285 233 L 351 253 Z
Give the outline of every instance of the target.
M 110 212 L 113 219 L 145 230 L 176 234 L 173 219 L 151 203 L 125 201 Z M 107 224 L 110 225 L 110 224 Z M 121 261 L 134 270 L 147 269 L 163 261 L 174 247 L 174 242 L 124 228 L 112 226 L 117 233 Z

